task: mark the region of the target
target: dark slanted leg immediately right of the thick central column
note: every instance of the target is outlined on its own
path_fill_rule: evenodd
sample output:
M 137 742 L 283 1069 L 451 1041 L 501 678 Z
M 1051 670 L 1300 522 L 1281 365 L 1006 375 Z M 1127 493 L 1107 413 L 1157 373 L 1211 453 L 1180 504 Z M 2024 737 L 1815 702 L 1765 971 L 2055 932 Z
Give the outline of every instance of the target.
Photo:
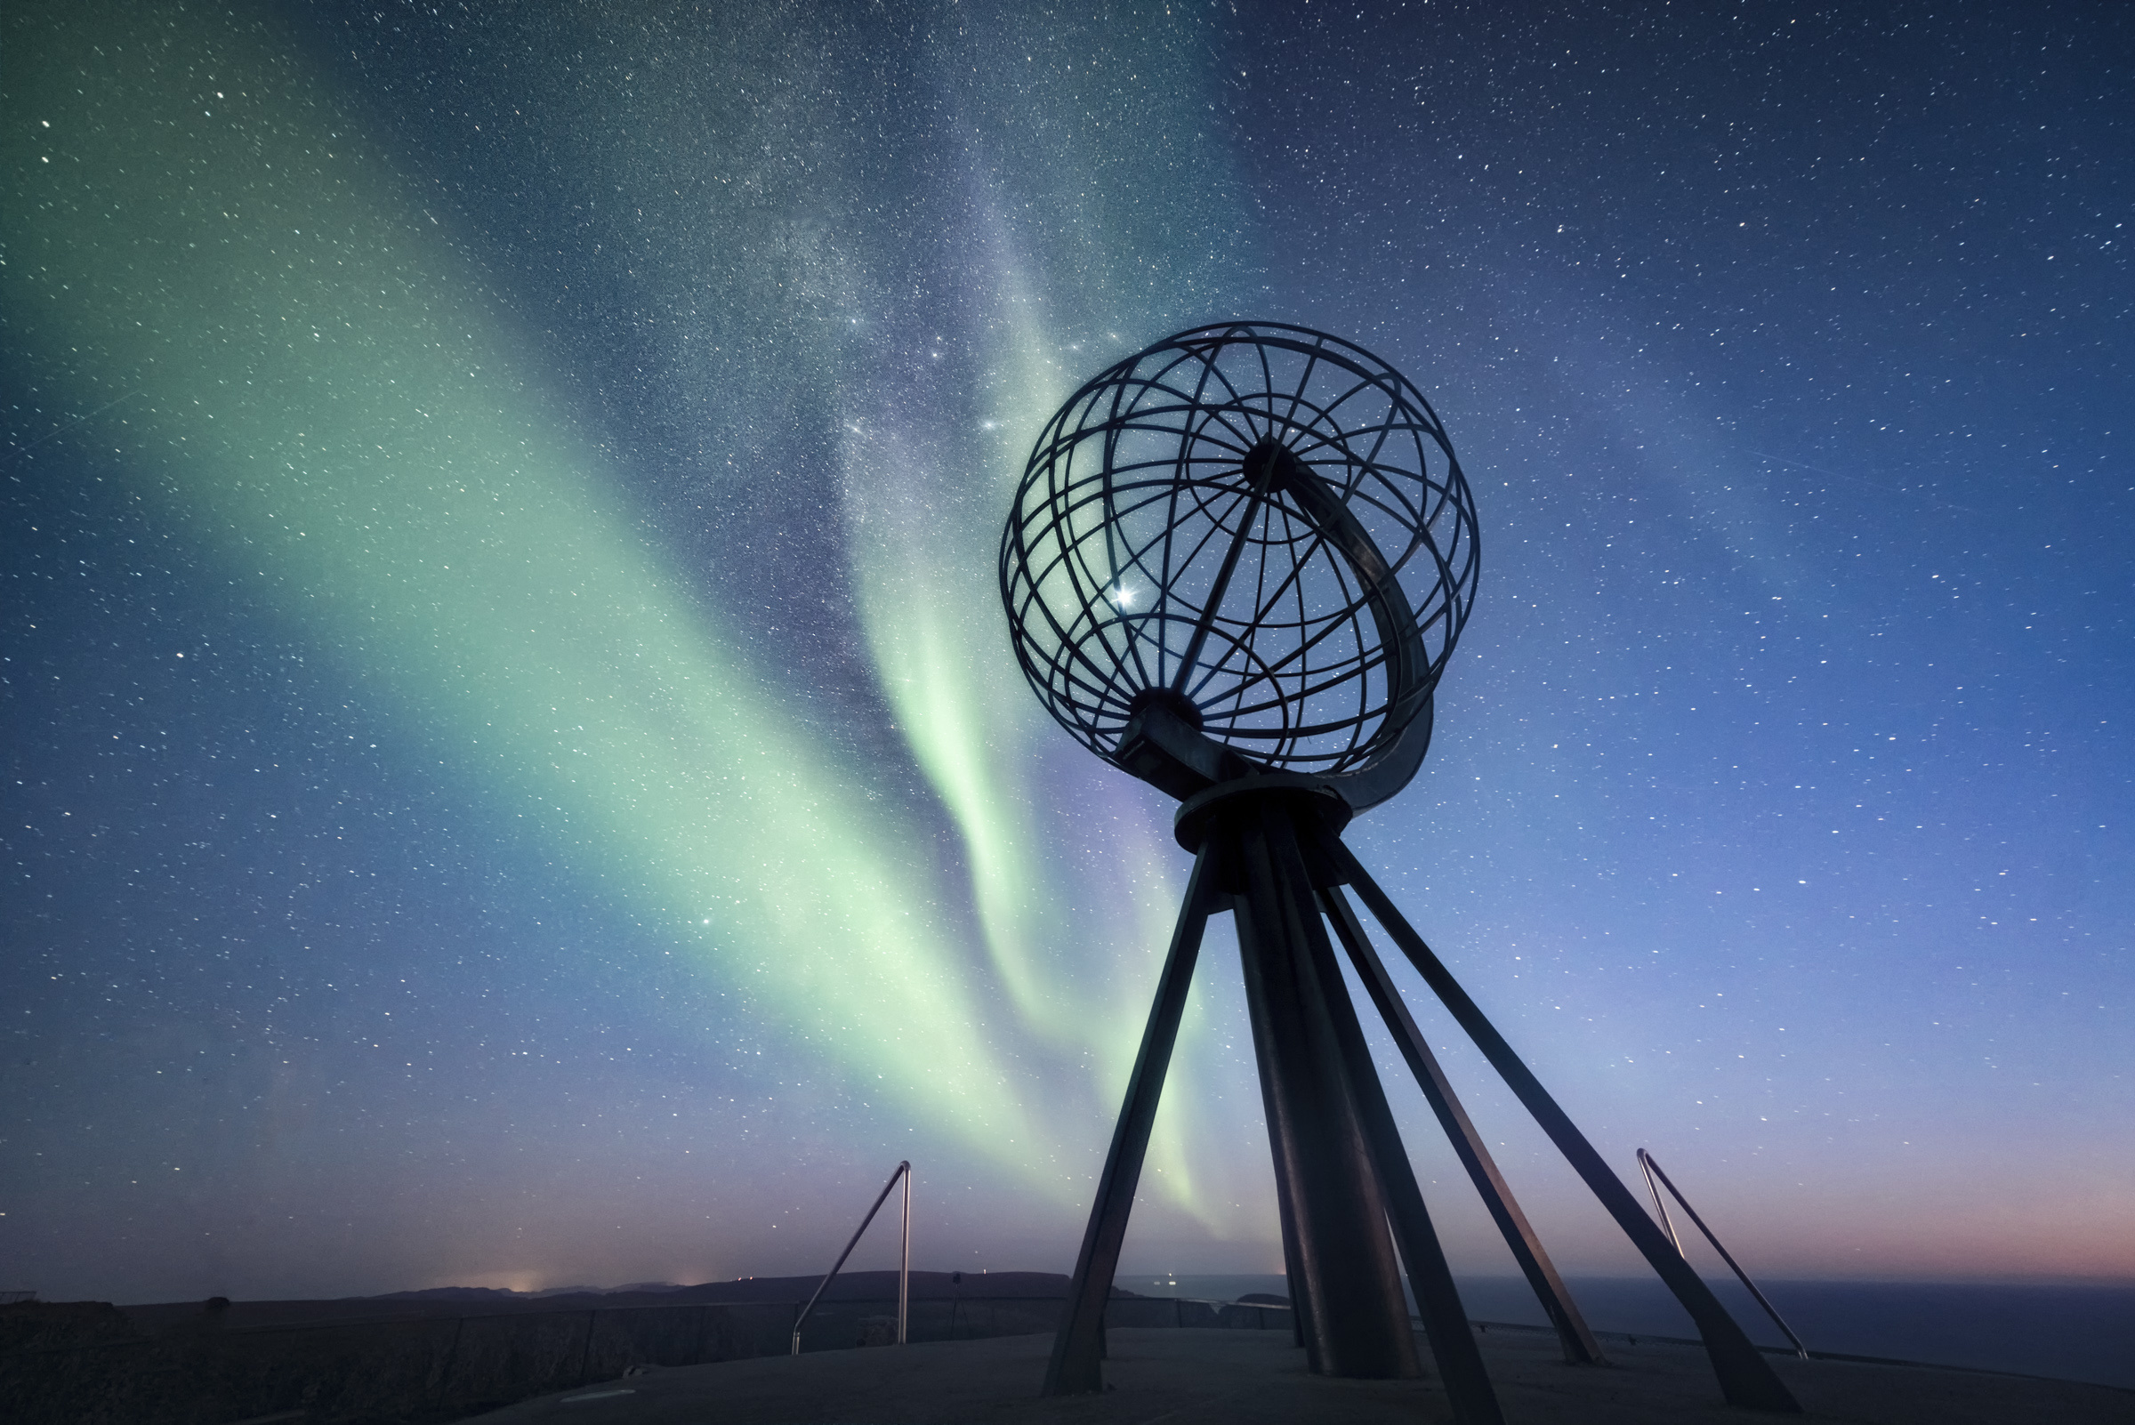
M 1332 949 L 1322 941 L 1319 951 L 1324 956 L 1317 966 L 1319 983 L 1337 990 L 1343 988 L 1341 966 L 1334 964 Z M 1386 1192 L 1394 1239 L 1401 1244 L 1401 1261 L 1409 1267 L 1409 1288 L 1416 1293 L 1416 1308 L 1424 1316 L 1424 1335 L 1430 1340 L 1430 1355 L 1437 1357 L 1439 1376 L 1445 1380 L 1445 1397 L 1452 1402 L 1454 1421 L 1458 1425 L 1503 1425 L 1505 1414 L 1497 1406 L 1497 1391 L 1490 1387 L 1490 1374 L 1484 1370 L 1482 1350 L 1469 1331 L 1467 1310 L 1460 1306 L 1460 1288 L 1454 1286 L 1452 1267 L 1445 1265 L 1439 1233 L 1430 1227 L 1424 1190 L 1416 1186 L 1409 1150 L 1401 1146 L 1401 1128 L 1394 1124 L 1394 1111 L 1386 1105 L 1386 1090 L 1379 1086 L 1379 1071 L 1371 1062 L 1364 1028 L 1356 1022 L 1356 1007 L 1347 994 L 1328 994 L 1328 1009 L 1334 1018 L 1334 1035 L 1341 1039 L 1343 1058 L 1349 1064 L 1358 1118 L 1371 1143 L 1379 1188 Z

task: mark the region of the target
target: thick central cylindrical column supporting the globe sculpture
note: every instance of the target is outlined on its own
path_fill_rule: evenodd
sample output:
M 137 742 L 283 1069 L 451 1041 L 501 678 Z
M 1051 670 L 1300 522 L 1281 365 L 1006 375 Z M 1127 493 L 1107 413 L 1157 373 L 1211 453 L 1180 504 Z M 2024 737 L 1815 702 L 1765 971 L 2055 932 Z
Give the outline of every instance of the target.
M 1232 836 L 1245 885 L 1236 907 L 1247 1007 L 1275 1107 L 1268 1139 L 1275 1171 L 1290 1182 L 1296 1224 L 1298 1276 L 1290 1295 L 1304 1303 L 1315 1370 L 1381 1380 L 1418 1376 L 1386 1197 L 1330 1013 L 1330 998 L 1345 990 L 1341 981 L 1322 983 L 1317 973 L 1334 951 L 1292 811 L 1277 798 L 1247 802 L 1223 817 L 1213 838 Z

